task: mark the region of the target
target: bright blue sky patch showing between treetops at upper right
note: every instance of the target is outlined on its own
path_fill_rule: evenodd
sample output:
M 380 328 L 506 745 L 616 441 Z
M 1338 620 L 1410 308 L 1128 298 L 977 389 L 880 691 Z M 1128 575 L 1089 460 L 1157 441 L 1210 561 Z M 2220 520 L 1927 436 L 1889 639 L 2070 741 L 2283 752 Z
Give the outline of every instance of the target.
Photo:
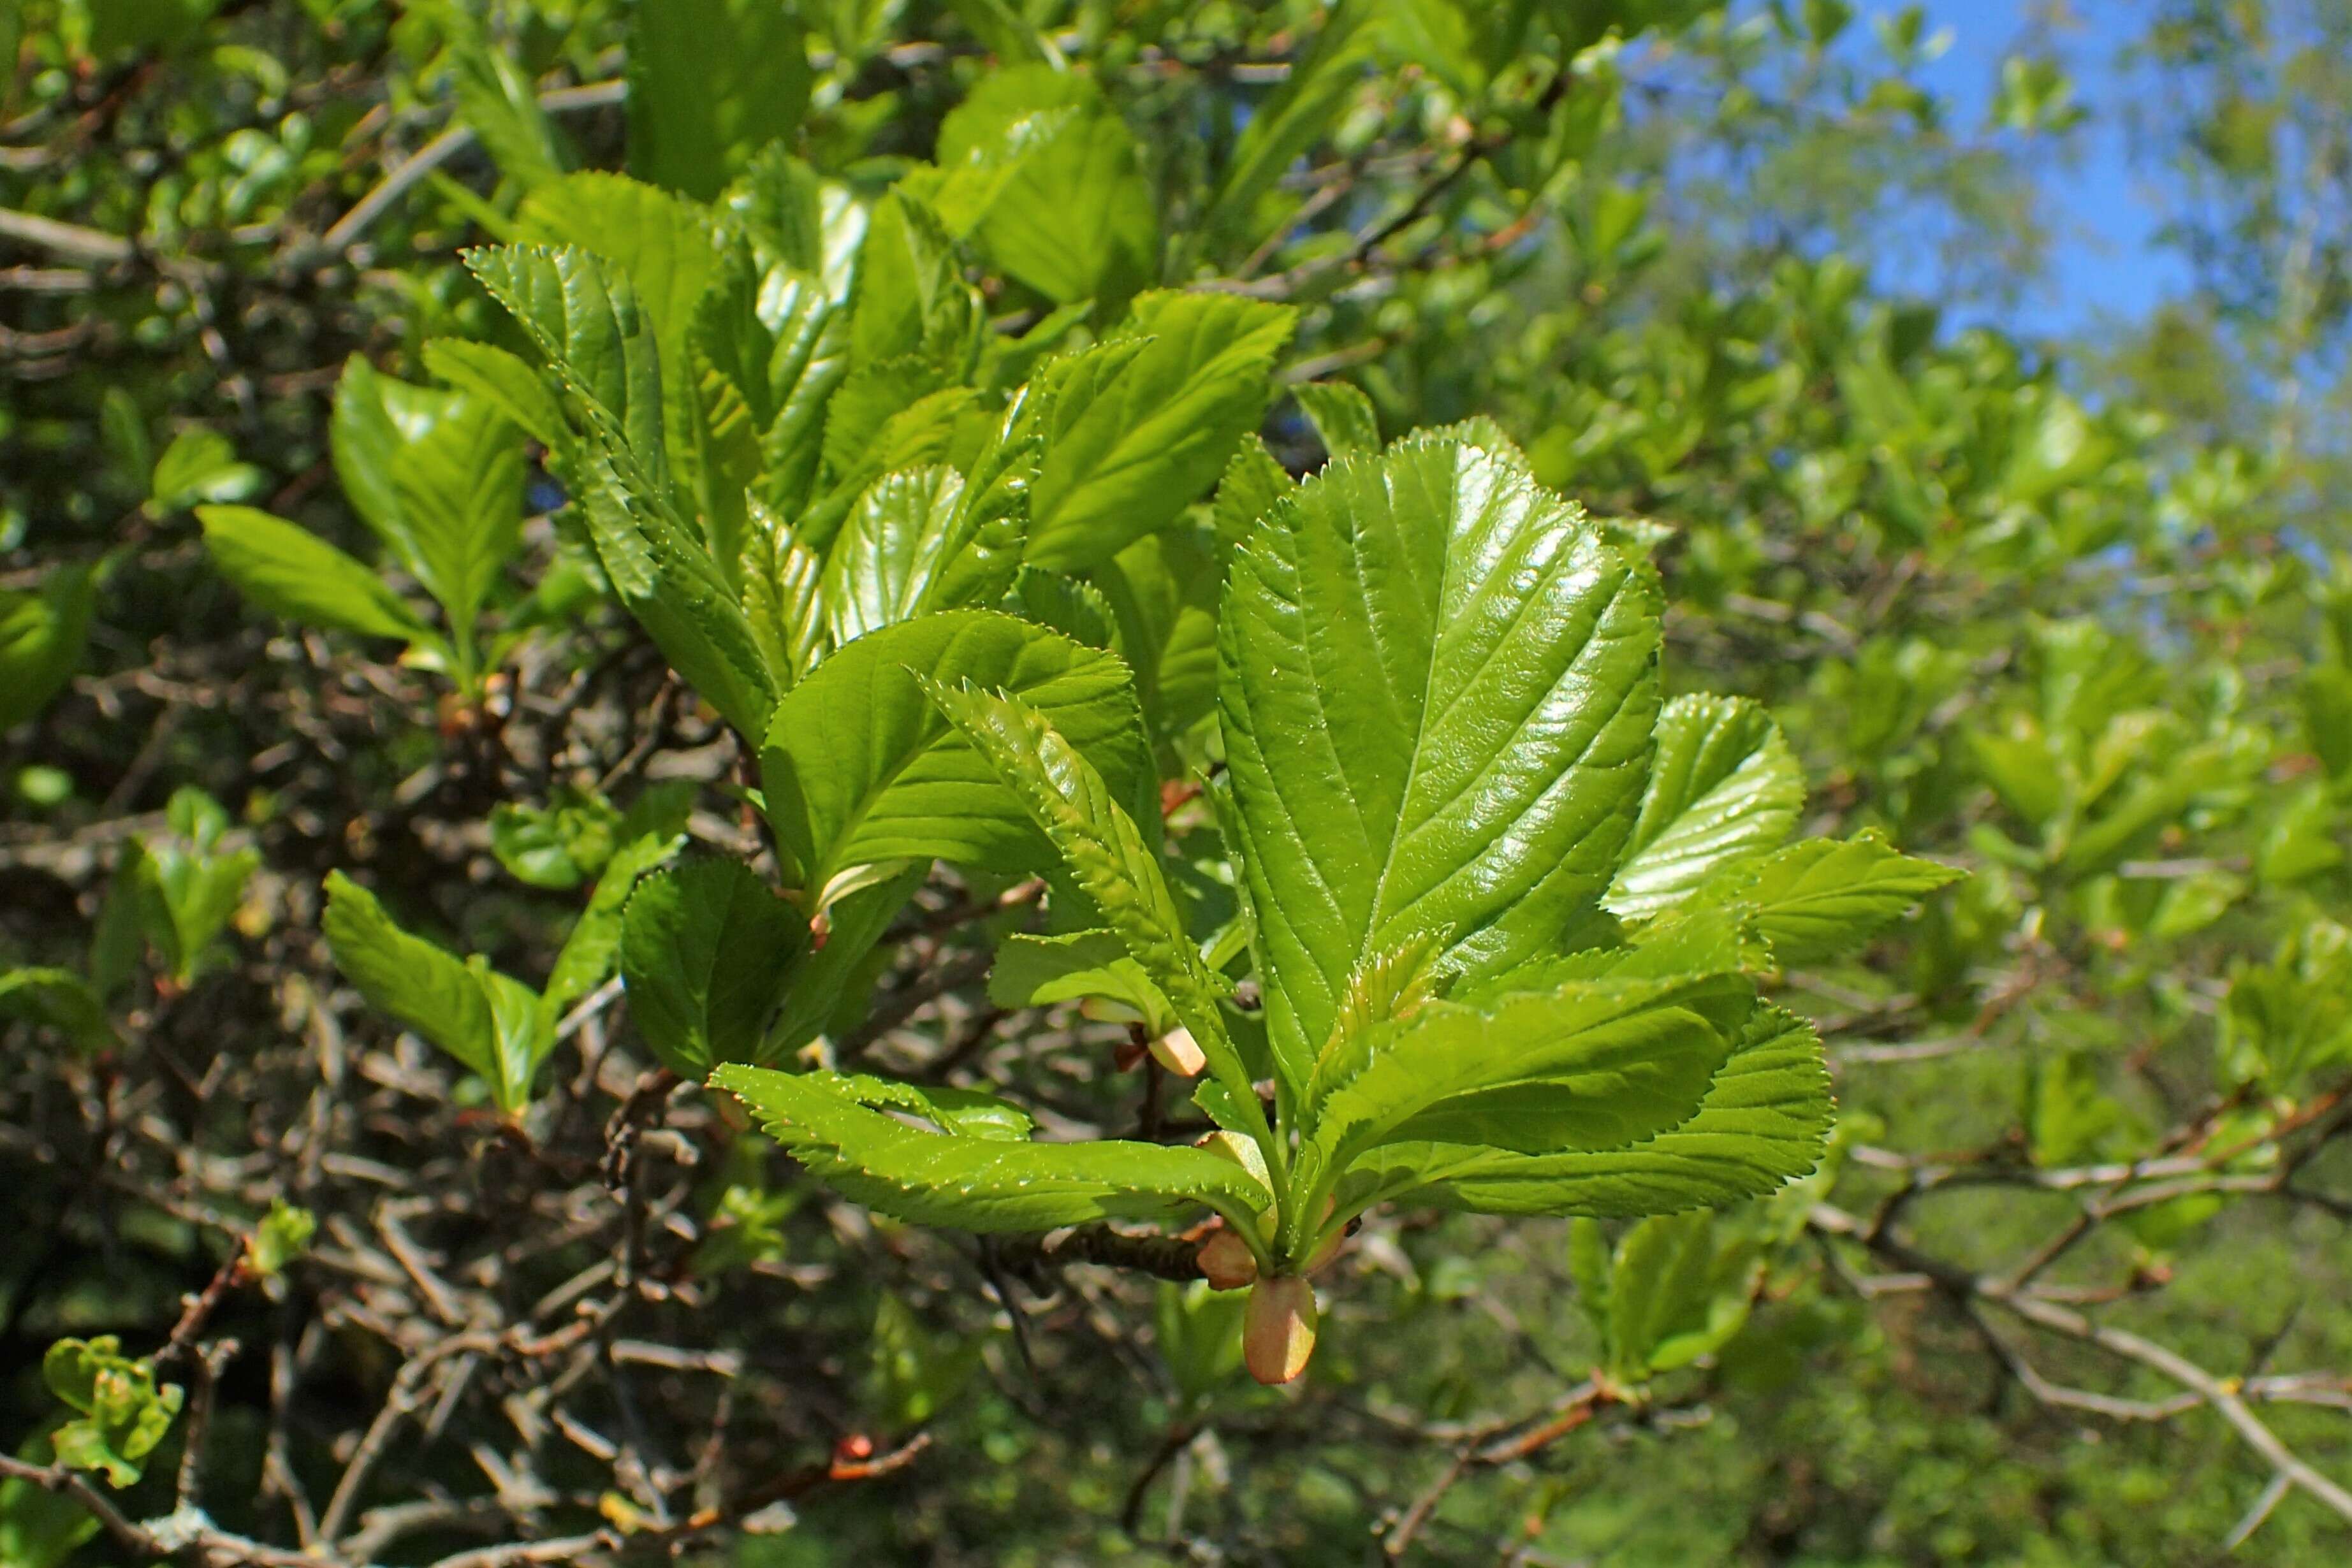
M 1867 16 L 1903 7 L 1872 0 L 1863 9 Z M 2004 313 L 2011 329 L 2025 334 L 2077 331 L 2100 315 L 2145 315 L 2190 287 L 2187 266 L 2154 242 L 2164 197 L 2150 172 L 2131 160 L 2119 115 L 2131 82 L 2117 73 L 2114 54 L 2147 26 L 2150 7 L 2143 0 L 2077 0 L 2065 26 L 2032 33 L 2046 9 L 2034 0 L 1926 0 L 1929 31 L 1950 28 L 1952 47 L 1926 68 L 1924 85 L 1955 101 L 1955 127 L 1983 125 L 1999 63 L 2020 42 L 2046 40 L 2070 66 L 2077 101 L 2091 110 L 2089 125 L 2074 132 L 2077 158 L 2053 162 L 2046 176 L 2058 237 L 2051 277 L 2020 310 Z

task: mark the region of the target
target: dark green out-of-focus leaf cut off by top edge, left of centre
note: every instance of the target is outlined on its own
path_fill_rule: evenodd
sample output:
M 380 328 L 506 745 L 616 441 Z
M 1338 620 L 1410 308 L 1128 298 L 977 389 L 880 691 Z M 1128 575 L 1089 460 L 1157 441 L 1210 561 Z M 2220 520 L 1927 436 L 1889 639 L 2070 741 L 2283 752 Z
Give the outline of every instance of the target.
M 809 45 L 776 0 L 661 0 L 628 31 L 628 169 L 708 202 L 800 129 Z

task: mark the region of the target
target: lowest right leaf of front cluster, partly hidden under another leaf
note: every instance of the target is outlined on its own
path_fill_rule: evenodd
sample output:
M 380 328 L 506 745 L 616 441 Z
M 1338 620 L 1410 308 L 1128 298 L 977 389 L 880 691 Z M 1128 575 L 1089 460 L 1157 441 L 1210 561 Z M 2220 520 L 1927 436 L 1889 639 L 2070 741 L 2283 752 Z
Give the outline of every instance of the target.
M 1722 1208 L 1820 1164 L 1830 1072 L 1813 1025 L 1757 1009 L 1682 1126 L 1625 1150 L 1505 1154 L 1388 1145 L 1359 1166 L 1416 1201 L 1479 1213 L 1651 1215 Z

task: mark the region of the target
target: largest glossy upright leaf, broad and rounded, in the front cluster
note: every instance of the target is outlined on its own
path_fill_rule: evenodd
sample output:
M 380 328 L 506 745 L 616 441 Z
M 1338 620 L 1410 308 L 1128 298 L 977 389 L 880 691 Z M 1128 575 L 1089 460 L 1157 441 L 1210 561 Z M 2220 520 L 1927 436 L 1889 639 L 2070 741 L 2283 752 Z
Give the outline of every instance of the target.
M 1658 590 L 1515 458 L 1341 458 L 1235 555 L 1230 849 L 1268 1037 L 1305 1088 L 1350 976 L 1439 933 L 1468 980 L 1548 954 L 1616 872 L 1658 712 Z

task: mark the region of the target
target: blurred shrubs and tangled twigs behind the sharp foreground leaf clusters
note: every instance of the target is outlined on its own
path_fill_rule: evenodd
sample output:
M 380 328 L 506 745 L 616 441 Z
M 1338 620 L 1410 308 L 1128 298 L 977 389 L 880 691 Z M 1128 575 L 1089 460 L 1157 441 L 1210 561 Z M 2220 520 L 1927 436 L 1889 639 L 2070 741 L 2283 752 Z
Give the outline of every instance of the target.
M 2199 287 L 2079 343 L 1882 263 L 1957 235 L 1997 322 L 2037 162 L 2124 106 L 2027 52 L 1966 122 L 1917 14 L 1835 0 L 0 16 L 0 1561 L 2345 1552 L 2340 7 L 2147 7 L 2133 129 Z M 1374 437 L 1491 416 L 1663 529 L 1668 684 L 1778 715 L 1806 832 L 1971 872 L 1778 987 L 1837 1072 L 1820 1175 L 1712 1222 L 1376 1215 L 1265 1392 L 1237 1298 L 877 1222 L 647 1077 L 609 957 L 562 966 L 675 835 L 762 825 L 560 454 L 437 496 L 416 447 L 473 425 L 381 376 L 527 348 L 461 249 L 560 237 L 567 172 L 710 200 L 781 141 L 941 197 L 1009 103 L 1068 162 L 938 275 L 971 386 L 1148 287 L 1294 306 L 1282 468 L 1367 435 L 1315 386 Z M 242 505 L 381 569 L 278 588 L 341 583 L 341 630 L 266 614 Z M 449 505 L 489 541 L 454 576 Z M 527 1072 L 329 959 L 332 872 L 546 1009 L 527 1133 Z M 990 992 L 1033 896 L 936 872 L 833 1048 L 1150 1126 L 1124 1025 Z

